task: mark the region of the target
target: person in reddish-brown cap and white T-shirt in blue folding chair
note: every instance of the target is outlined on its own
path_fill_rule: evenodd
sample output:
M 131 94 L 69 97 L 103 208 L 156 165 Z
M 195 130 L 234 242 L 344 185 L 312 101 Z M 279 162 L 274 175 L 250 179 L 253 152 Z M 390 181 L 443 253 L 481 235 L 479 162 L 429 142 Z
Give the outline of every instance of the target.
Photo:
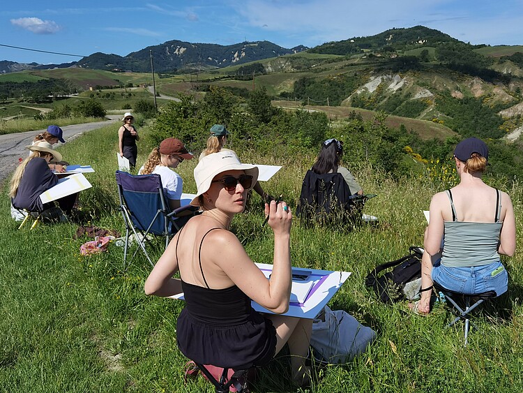
M 191 158 L 192 154 L 185 149 L 181 140 L 167 138 L 162 140 L 160 147 L 155 147 L 151 151 L 144 166 L 138 172 L 139 175 L 149 175 L 151 173 L 160 175 L 171 210 L 180 207 L 183 187 L 183 180 L 173 169 L 176 169 L 183 160 L 190 160 Z M 191 213 L 188 212 L 188 214 Z

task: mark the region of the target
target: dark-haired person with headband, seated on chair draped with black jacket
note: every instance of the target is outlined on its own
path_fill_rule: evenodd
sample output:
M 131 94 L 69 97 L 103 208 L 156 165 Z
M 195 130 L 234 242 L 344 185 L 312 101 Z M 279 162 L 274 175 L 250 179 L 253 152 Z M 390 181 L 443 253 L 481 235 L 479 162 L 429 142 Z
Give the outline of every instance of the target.
M 363 195 L 363 188 L 358 184 L 354 175 L 349 170 L 341 166 L 343 157 L 343 142 L 334 138 L 325 140 L 321 143 L 321 151 L 319 152 L 318 158 L 314 165 L 312 165 L 312 172 L 318 175 L 324 175 L 325 173 L 341 173 L 351 195 L 358 194 Z

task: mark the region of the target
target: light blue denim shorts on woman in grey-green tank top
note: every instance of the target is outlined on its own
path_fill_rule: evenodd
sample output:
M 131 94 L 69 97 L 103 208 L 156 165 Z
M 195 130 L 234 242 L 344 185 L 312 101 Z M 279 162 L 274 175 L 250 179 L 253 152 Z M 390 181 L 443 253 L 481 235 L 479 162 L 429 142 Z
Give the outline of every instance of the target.
M 507 271 L 499 261 L 473 267 L 446 267 L 437 262 L 432 267 L 432 280 L 448 290 L 467 295 L 494 290 L 499 296 L 508 286 Z

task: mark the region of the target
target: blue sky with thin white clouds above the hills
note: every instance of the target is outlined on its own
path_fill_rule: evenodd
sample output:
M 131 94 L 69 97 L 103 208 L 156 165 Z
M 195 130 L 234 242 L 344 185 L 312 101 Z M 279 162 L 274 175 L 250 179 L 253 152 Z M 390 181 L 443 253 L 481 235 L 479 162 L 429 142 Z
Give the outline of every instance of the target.
M 523 45 L 523 1 L 3 1 L 0 44 L 121 56 L 168 40 L 220 45 L 269 40 L 287 48 L 313 47 L 417 24 L 473 44 Z M 0 60 L 48 64 L 78 59 L 0 46 Z

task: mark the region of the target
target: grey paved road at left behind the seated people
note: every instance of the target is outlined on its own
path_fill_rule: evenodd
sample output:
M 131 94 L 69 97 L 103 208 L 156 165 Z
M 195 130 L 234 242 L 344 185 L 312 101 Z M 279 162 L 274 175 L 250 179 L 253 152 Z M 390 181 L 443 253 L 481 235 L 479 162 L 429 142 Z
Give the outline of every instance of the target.
M 108 114 L 105 121 L 96 121 L 95 123 L 73 124 L 72 126 L 61 127 L 63 130 L 63 139 L 66 141 L 77 138 L 82 133 L 96 130 L 107 126 L 107 124 L 119 121 L 121 114 Z M 11 172 L 15 170 L 18 165 L 18 158 L 26 158 L 29 151 L 25 148 L 28 144 L 33 142 L 34 136 L 45 130 L 27 131 L 26 133 L 14 133 L 0 135 L 0 181 L 9 177 Z M 56 145 L 55 145 L 56 146 Z M 60 150 L 60 147 L 57 147 Z

